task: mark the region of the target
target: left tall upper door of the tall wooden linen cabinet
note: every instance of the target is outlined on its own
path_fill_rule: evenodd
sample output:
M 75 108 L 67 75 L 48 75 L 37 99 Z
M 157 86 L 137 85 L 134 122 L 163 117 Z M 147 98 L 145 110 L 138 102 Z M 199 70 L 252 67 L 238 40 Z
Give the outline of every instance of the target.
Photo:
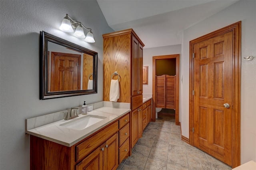
M 138 55 L 138 47 L 139 47 L 139 42 L 138 40 L 132 36 L 132 96 L 138 95 L 138 60 L 139 60 L 139 55 Z

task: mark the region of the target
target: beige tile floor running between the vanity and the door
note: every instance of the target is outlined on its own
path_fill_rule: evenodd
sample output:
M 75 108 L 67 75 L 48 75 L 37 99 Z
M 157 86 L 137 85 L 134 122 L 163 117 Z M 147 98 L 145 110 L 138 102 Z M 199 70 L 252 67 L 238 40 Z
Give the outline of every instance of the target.
M 180 137 L 173 117 L 158 116 L 144 129 L 132 148 L 132 156 L 118 170 L 231 170 L 232 168 Z

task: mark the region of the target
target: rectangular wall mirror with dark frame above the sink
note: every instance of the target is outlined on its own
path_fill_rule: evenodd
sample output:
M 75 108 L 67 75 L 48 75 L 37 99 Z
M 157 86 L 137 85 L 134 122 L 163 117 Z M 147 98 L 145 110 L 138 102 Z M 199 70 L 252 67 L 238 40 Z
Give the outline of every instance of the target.
M 40 99 L 97 93 L 98 53 L 40 32 Z

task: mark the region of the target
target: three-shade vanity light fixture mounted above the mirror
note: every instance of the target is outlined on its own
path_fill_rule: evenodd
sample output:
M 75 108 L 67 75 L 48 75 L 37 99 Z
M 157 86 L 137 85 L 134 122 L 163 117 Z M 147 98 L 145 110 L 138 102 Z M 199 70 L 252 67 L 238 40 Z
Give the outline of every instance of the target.
M 84 29 L 89 30 L 86 34 L 84 35 Z M 86 28 L 81 22 L 78 22 L 76 20 L 73 20 L 68 14 L 64 17 L 62 20 L 60 30 L 64 32 L 74 32 L 74 36 L 77 38 L 85 38 L 84 41 L 89 42 L 89 43 L 94 43 L 95 40 L 93 38 L 92 34 L 92 29 L 91 28 Z

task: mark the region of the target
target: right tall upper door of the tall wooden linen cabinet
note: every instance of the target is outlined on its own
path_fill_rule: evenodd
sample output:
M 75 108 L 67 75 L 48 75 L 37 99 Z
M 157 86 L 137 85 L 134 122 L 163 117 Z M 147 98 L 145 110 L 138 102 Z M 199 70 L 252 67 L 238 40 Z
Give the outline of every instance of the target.
M 143 93 L 143 46 L 139 43 L 138 51 L 138 92 Z

